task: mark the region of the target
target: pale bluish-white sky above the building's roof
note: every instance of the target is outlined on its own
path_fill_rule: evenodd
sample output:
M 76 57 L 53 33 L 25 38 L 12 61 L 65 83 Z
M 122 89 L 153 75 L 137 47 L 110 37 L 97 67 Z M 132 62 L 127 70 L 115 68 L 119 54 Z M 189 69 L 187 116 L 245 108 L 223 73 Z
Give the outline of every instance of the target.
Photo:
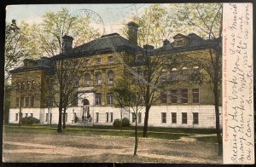
M 119 32 L 124 22 L 129 22 L 132 16 L 139 16 L 151 4 L 122 3 L 122 4 L 33 4 L 9 5 L 6 7 L 6 21 L 16 20 L 28 23 L 40 23 L 42 16 L 50 11 L 66 8 L 71 14 L 78 14 L 84 10 L 92 10 L 102 19 L 105 34 Z

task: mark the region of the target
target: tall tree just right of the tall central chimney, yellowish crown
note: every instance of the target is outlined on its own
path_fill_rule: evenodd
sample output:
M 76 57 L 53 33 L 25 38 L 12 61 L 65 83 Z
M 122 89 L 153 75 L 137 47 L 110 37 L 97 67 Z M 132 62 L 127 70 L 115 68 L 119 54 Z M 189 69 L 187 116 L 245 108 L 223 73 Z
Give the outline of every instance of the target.
M 137 55 L 137 57 L 143 57 L 143 60 L 136 60 L 131 65 L 137 66 L 136 70 L 133 70 L 131 74 L 137 80 L 136 84 L 140 95 L 143 96 L 145 107 L 143 137 L 148 136 L 150 107 L 159 101 L 160 92 L 164 85 L 160 79 L 161 72 L 166 66 L 166 62 L 168 62 L 168 66 L 176 63 L 175 55 L 156 54 L 152 51 L 154 47 L 159 48 L 165 39 L 172 37 L 172 21 L 168 21 L 167 16 L 167 9 L 164 5 L 153 4 L 148 9 L 145 9 L 142 16 L 132 19 L 140 26 L 138 44 L 143 46 L 143 50 Z M 128 32 L 127 28 L 124 29 L 124 33 L 129 36 Z

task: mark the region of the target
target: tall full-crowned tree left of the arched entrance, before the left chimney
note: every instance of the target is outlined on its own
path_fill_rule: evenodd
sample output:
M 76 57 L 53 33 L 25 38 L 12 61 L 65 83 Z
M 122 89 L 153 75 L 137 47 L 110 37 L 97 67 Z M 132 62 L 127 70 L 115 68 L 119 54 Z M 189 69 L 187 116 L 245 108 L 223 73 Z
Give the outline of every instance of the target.
M 73 94 L 78 86 L 78 81 L 82 77 L 84 68 L 84 60 L 72 59 L 74 55 L 72 47 L 76 47 L 81 43 L 86 43 L 91 39 L 98 37 L 99 33 L 95 28 L 90 26 L 90 16 L 77 16 L 70 14 L 67 9 L 61 9 L 57 12 L 49 12 L 44 14 L 43 22 L 30 26 L 32 32 L 29 37 L 36 39 L 33 41 L 33 46 L 36 50 L 36 55 L 47 55 L 52 57 L 54 62 L 55 75 L 53 78 L 53 89 L 51 95 L 47 98 L 55 97 L 55 105 L 59 107 L 59 123 L 58 132 L 62 128 L 66 128 L 66 110 L 73 103 Z M 63 37 L 74 37 L 71 41 L 71 46 L 66 50 Z M 67 52 L 65 52 L 67 51 Z M 56 56 L 57 55 L 57 56 Z M 83 68 L 81 68 L 83 67 Z M 46 102 L 49 107 L 49 103 Z M 63 116 L 62 115 L 63 112 Z M 63 127 L 61 122 L 63 121 Z

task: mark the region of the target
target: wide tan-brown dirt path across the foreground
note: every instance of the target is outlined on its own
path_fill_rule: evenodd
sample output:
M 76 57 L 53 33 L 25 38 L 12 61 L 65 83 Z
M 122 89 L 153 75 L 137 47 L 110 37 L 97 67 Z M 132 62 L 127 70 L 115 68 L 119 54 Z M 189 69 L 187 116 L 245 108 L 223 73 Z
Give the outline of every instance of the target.
M 5 162 L 123 162 L 123 163 L 221 163 L 217 146 L 195 142 L 139 140 L 137 156 L 133 138 L 74 135 L 3 135 Z

